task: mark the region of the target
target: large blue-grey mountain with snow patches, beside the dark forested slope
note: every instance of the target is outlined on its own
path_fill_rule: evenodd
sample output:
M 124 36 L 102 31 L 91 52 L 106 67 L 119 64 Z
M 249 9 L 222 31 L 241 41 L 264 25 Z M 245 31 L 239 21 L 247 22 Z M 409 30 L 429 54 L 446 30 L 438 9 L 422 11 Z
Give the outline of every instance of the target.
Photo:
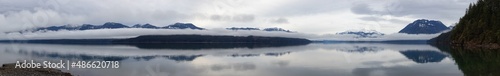
M 448 30 L 448 27 L 441 23 L 441 21 L 419 19 L 414 21 L 413 23 L 408 24 L 405 28 L 399 31 L 399 33 L 437 34 L 444 30 Z

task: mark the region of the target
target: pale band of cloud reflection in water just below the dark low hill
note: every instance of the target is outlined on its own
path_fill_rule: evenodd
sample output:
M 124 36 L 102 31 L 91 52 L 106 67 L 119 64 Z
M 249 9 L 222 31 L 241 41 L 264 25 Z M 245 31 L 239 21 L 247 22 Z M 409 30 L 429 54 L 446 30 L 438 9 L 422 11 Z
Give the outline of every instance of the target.
M 19 47 L 10 47 L 11 45 Z M 57 47 L 57 48 L 54 48 Z M 234 48 L 234 49 L 203 49 L 203 50 L 177 50 L 177 49 L 138 49 L 122 45 L 60 45 L 60 44 L 2 44 L 0 48 L 25 49 L 33 51 L 56 52 L 59 54 L 87 54 L 104 56 L 156 56 L 156 55 L 243 55 L 265 54 L 279 55 L 279 53 L 305 51 L 308 46 L 269 47 L 269 48 Z M 200 52 L 203 51 L 203 52 Z M 275 53 L 275 54 L 272 54 Z

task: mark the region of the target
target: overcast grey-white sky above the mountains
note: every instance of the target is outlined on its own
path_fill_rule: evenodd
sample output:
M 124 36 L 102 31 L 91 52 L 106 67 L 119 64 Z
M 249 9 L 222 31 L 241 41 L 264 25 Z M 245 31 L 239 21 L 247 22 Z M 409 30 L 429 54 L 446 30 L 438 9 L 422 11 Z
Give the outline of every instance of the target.
M 416 19 L 458 21 L 476 0 L 0 0 L 0 31 L 65 24 L 166 26 L 207 29 L 281 27 L 331 34 L 369 29 L 396 33 Z

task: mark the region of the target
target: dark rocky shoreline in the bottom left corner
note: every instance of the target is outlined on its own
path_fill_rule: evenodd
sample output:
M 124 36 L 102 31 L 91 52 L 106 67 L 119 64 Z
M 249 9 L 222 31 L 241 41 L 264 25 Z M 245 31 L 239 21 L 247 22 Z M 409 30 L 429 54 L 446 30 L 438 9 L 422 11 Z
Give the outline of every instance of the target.
M 3 64 L 0 67 L 0 76 L 73 76 L 59 69 L 47 68 L 15 68 L 15 63 Z

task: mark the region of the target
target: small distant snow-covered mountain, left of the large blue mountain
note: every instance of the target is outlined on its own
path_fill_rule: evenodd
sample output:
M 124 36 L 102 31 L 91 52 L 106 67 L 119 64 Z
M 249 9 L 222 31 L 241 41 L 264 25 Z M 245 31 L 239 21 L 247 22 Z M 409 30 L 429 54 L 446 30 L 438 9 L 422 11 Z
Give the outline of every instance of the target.
M 340 32 L 337 35 L 355 35 L 354 38 L 377 38 L 385 34 L 375 30 L 361 30 Z

